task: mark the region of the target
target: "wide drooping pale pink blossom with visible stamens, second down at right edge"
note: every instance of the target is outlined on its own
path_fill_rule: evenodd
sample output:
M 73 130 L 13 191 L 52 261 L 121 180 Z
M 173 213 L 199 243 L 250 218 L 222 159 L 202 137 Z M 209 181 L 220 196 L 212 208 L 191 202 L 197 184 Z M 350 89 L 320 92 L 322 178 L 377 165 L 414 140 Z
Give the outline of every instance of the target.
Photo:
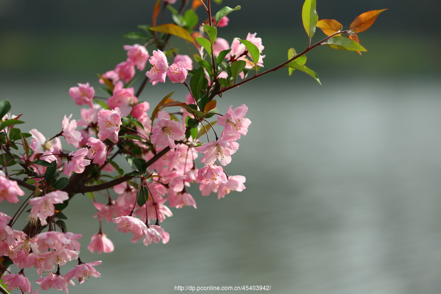
M 201 147 L 195 147 L 196 151 L 204 154 L 200 162 L 211 165 L 219 159 L 219 162 L 223 166 L 231 162 L 231 154 L 234 154 L 237 149 L 239 149 L 239 144 L 236 142 L 221 139 L 204 143 Z

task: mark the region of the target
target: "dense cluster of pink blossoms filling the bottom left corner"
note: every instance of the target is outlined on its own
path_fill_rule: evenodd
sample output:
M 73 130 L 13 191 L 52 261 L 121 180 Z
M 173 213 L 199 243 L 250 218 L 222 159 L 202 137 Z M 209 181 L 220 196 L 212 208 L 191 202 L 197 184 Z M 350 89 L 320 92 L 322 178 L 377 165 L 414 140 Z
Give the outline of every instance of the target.
M 54 204 L 67 199 L 67 193 L 62 191 L 54 191 L 30 199 L 29 204 L 32 208 L 29 219 L 39 220 L 41 225 L 47 224 L 47 218 L 55 214 Z M 81 284 L 88 276 L 99 276 L 98 271 L 93 267 L 99 265 L 100 261 L 79 262 L 78 266 L 64 276 L 59 273 L 60 266 L 78 259 L 80 243 L 77 240 L 81 239 L 80 234 L 49 230 L 30 238 L 25 232 L 12 229 L 8 223 L 10 220 L 11 217 L 0 212 L 0 254 L 7 255 L 21 271 L 2 276 L 7 290 L 18 288 L 22 292 L 32 293 L 32 286 L 24 274 L 25 268 L 34 267 L 40 277 L 44 272 L 50 272 L 49 275 L 36 280 L 36 283 L 43 290 L 55 288 L 66 293 L 68 293 L 67 283 L 75 285 L 72 279 L 76 278 Z M 55 270 L 55 266 L 58 270 L 54 274 L 51 271 Z M 38 290 L 34 293 L 38 293 Z

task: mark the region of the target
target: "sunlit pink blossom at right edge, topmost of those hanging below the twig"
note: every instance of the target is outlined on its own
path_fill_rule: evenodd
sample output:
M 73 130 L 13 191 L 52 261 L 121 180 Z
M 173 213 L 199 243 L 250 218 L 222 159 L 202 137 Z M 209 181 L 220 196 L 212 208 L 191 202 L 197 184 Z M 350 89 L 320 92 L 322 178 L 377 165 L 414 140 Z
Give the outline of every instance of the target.
M 246 135 L 248 126 L 251 124 L 250 120 L 244 118 L 247 111 L 248 107 L 245 104 L 236 107 L 234 110 L 231 109 L 230 105 L 224 116 L 218 116 L 218 124 L 225 127 L 221 138 L 224 138 L 226 135 L 233 135 L 237 140 L 241 135 Z

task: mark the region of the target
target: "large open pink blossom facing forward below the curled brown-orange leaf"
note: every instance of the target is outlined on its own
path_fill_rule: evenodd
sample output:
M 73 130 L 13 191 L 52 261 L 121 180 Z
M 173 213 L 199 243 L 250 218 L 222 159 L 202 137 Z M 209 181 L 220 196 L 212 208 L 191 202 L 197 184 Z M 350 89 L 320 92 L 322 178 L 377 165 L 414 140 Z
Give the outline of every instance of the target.
M 167 111 L 158 113 L 158 122 L 151 130 L 151 143 L 156 144 L 156 149 L 160 150 L 166 146 L 174 149 L 176 144 L 174 141 L 185 139 L 185 126 L 182 123 L 170 120 Z

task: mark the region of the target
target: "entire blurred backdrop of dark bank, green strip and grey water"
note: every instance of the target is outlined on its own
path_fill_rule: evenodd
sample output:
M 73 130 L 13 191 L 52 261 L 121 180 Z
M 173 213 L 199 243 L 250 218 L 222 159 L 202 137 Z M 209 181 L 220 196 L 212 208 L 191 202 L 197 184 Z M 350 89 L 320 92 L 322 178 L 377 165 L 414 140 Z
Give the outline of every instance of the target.
M 96 73 L 125 60 L 123 45 L 137 40 L 122 35 L 150 23 L 153 3 L 0 1 L 0 94 L 23 114 L 21 129 L 51 137 L 65 114 L 79 119 L 80 107 L 68 95 L 77 83 L 90 82 L 104 96 Z M 299 52 L 307 45 L 302 1 L 223 5 L 242 10 L 229 15 L 218 35 L 231 42 L 257 32 L 267 54 L 264 69 L 285 61 L 289 48 Z M 97 267 L 101 278 L 69 286 L 70 293 L 173 293 L 178 285 L 440 293 L 441 4 L 317 4 L 319 19 L 336 19 L 343 28 L 361 13 L 383 8 L 389 10 L 359 34 L 368 49 L 363 56 L 326 47 L 307 54 L 322 86 L 304 73 L 281 70 L 218 99 L 221 112 L 228 105 L 249 107 L 249 132 L 226 167 L 228 174 L 246 177 L 246 189 L 218 200 L 200 196 L 195 187 L 197 209 L 172 209 L 173 217 L 162 223 L 171 235 L 167 245 L 131 244 L 105 223 L 115 251 L 91 254 L 86 247 L 98 231 L 95 208 L 86 196 L 75 196 L 66 215 L 69 230 L 83 234 L 80 257 L 103 263 Z M 200 9 L 199 16 L 204 18 Z M 321 37 L 317 31 L 313 41 Z M 181 45 L 187 52 L 176 43 Z M 153 108 L 172 91 L 175 99 L 186 94 L 168 81 L 149 84 L 139 98 Z M 1 211 L 14 213 L 4 201 Z M 32 272 L 25 271 L 36 279 Z

